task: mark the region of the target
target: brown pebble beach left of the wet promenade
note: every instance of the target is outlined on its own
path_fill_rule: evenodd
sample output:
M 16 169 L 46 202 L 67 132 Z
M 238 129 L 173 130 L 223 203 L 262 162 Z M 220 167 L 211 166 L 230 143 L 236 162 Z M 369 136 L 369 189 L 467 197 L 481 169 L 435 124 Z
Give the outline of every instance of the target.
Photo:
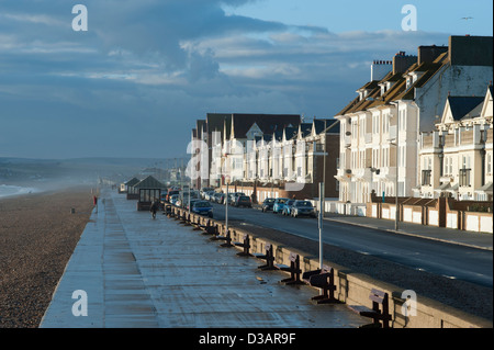
M 0 328 L 38 327 L 92 208 L 90 189 L 0 200 Z

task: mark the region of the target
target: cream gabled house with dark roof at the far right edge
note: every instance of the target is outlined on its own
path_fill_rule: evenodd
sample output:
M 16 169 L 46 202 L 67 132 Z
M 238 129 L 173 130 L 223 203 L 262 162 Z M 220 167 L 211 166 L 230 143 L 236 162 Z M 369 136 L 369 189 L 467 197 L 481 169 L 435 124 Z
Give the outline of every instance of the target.
M 493 197 L 493 93 L 448 97 L 436 131 L 420 135 L 417 196 Z

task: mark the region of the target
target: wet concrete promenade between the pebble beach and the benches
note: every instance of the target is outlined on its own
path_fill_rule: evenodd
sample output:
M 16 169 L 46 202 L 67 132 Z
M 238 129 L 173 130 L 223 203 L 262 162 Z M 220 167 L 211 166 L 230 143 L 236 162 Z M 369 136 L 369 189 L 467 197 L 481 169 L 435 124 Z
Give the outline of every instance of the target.
M 356 328 L 346 305 L 313 305 L 262 261 L 102 191 L 41 328 Z M 79 316 L 78 316 L 79 315 Z

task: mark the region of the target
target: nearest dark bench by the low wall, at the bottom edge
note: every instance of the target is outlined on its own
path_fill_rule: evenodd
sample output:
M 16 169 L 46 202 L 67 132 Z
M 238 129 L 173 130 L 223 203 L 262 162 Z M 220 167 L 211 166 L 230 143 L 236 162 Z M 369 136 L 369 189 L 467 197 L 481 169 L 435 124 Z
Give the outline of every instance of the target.
M 350 309 L 358 313 L 360 316 L 372 318 L 372 324 L 363 325 L 360 327 L 390 328 L 390 321 L 392 317 L 390 315 L 390 302 L 388 293 L 372 289 L 369 294 L 369 300 L 372 301 L 372 309 L 366 306 L 349 306 Z

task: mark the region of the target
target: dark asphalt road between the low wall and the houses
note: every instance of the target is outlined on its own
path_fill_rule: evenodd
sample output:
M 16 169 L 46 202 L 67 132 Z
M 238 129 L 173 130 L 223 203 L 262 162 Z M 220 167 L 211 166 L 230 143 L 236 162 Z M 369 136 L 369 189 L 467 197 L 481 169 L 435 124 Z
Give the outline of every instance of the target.
M 213 204 L 214 218 L 225 219 L 225 206 Z M 246 222 L 319 240 L 317 219 L 293 218 L 259 210 L 228 207 L 228 222 Z M 419 237 L 324 221 L 323 242 L 386 259 L 420 271 L 483 286 L 493 286 L 493 252 Z M 296 248 L 296 247 L 295 247 Z

